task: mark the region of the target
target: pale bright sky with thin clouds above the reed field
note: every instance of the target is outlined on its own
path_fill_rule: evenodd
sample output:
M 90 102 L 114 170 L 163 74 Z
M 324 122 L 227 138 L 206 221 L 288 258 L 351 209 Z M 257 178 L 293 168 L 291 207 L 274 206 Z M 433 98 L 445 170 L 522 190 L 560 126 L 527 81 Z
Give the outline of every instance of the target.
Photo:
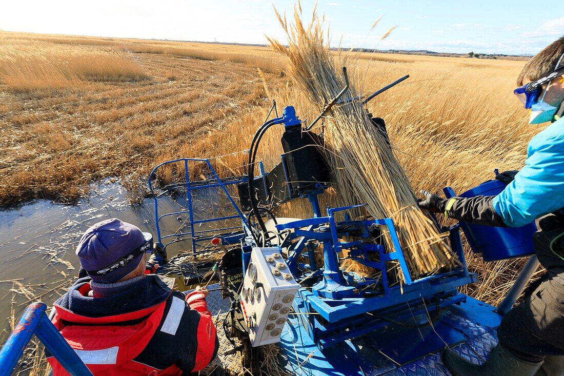
M 564 36 L 562 0 L 317 2 L 332 46 L 446 53 L 535 54 Z M 284 41 L 273 10 L 293 14 L 294 0 L 2 0 L 6 31 L 182 41 L 266 44 Z M 302 1 L 310 19 L 314 1 Z M 375 20 L 382 17 L 372 31 Z M 389 37 L 382 35 L 397 26 Z

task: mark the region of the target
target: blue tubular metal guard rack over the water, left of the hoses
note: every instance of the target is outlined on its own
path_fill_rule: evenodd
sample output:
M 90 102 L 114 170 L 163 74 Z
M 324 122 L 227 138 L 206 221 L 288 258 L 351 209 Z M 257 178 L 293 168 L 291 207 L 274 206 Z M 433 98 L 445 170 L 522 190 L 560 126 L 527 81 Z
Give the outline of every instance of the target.
M 208 166 L 208 168 L 210 169 L 210 172 L 211 172 L 211 175 L 212 175 L 211 180 L 212 181 L 215 180 L 215 182 L 213 182 L 213 183 L 209 182 L 209 183 L 204 183 L 204 184 L 200 183 L 200 184 L 194 185 L 194 182 L 190 180 L 190 172 L 189 172 L 189 169 L 188 169 L 188 162 L 189 161 L 205 163 Z M 157 194 L 155 189 L 153 189 L 153 178 L 155 177 L 157 170 L 164 165 L 179 163 L 179 162 L 184 163 L 185 181 L 183 183 L 177 183 L 177 184 L 174 184 L 174 185 L 170 185 L 168 187 L 168 189 L 165 189 L 165 191 Z M 205 250 L 199 250 L 198 249 L 198 248 L 201 247 L 199 242 L 209 241 L 209 240 L 213 239 L 214 237 L 216 237 L 217 233 L 227 235 L 228 231 L 241 229 L 241 226 L 231 226 L 231 227 L 214 228 L 214 229 L 210 229 L 210 230 L 195 231 L 194 225 L 223 221 L 223 220 L 230 220 L 230 219 L 234 219 L 234 218 L 241 218 L 243 229 L 249 229 L 249 224 L 248 224 L 248 221 L 247 221 L 245 215 L 243 215 L 243 212 L 241 212 L 241 209 L 239 208 L 239 206 L 237 206 L 237 204 L 235 203 L 235 200 L 233 200 L 233 198 L 231 197 L 231 195 L 229 194 L 229 192 L 227 190 L 227 186 L 237 185 L 237 184 L 245 182 L 245 181 L 246 181 L 246 177 L 233 178 L 231 180 L 222 180 L 218 176 L 217 172 L 215 172 L 215 169 L 213 168 L 209 159 L 207 159 L 207 158 L 206 159 L 180 158 L 180 159 L 174 159 L 174 160 L 170 160 L 170 161 L 166 161 L 166 162 L 163 162 L 161 164 L 158 164 L 155 168 L 153 168 L 153 170 L 149 174 L 149 178 L 148 178 L 149 190 L 151 190 L 151 193 L 153 195 L 153 200 L 155 202 L 155 226 L 156 226 L 156 230 L 157 230 L 158 245 L 162 249 L 166 250 L 166 247 L 169 246 L 169 244 L 173 243 L 173 241 L 170 241 L 166 244 L 163 244 L 164 239 L 168 239 L 168 238 L 180 239 L 183 236 L 189 235 L 191 242 L 192 242 L 192 252 L 193 253 L 199 253 L 199 252 L 205 251 Z M 169 193 L 170 191 L 177 189 L 179 187 L 184 187 L 186 189 L 187 211 L 165 213 L 165 214 L 160 215 L 159 209 L 158 209 L 158 200 L 165 193 Z M 213 187 L 221 187 L 223 189 L 223 192 L 226 194 L 227 198 L 230 200 L 233 208 L 237 212 L 237 215 L 215 217 L 215 218 L 209 218 L 209 219 L 206 219 L 206 220 L 195 221 L 194 215 L 193 215 L 192 191 L 201 190 L 201 189 L 209 189 L 209 188 L 213 188 Z M 180 214 L 186 214 L 186 212 L 188 212 L 188 216 L 190 217 L 190 232 L 189 233 L 175 233 L 175 234 L 168 234 L 168 235 L 162 235 L 161 234 L 160 221 L 161 221 L 162 218 L 180 215 Z M 206 237 L 204 235 L 204 234 L 208 234 L 208 233 L 211 233 L 211 232 L 215 233 L 213 237 L 211 237 L 211 236 Z

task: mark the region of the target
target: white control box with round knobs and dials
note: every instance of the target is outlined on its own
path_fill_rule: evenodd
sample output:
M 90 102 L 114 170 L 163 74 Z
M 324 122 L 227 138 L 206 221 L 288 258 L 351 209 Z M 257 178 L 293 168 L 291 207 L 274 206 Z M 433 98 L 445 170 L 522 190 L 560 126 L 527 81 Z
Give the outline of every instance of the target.
M 240 294 L 253 347 L 280 342 L 298 288 L 279 247 L 253 248 Z

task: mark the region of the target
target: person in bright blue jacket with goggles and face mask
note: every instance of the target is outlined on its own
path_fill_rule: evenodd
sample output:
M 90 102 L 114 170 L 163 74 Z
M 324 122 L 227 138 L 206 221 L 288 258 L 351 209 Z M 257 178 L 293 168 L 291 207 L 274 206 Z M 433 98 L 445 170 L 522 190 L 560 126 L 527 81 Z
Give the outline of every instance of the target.
M 530 123 L 552 122 L 533 137 L 525 167 L 496 176 L 508 185 L 497 196 L 443 199 L 427 191 L 418 205 L 459 221 L 518 227 L 539 218 L 535 251 L 547 273 L 530 286 L 497 330 L 499 344 L 482 365 L 450 349 L 443 362 L 455 376 L 564 374 L 564 37 L 534 56 L 514 93 Z

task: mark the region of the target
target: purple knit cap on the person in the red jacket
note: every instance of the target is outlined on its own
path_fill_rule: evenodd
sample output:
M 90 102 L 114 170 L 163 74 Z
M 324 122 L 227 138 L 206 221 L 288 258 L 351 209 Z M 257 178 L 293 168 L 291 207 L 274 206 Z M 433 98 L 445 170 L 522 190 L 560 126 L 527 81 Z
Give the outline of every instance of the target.
M 137 226 L 112 218 L 98 222 L 86 230 L 78 242 L 76 255 L 82 268 L 92 277 L 92 281 L 114 283 L 139 266 L 143 253 L 104 276 L 95 275 L 94 272 L 117 263 L 144 243 L 146 239 Z

